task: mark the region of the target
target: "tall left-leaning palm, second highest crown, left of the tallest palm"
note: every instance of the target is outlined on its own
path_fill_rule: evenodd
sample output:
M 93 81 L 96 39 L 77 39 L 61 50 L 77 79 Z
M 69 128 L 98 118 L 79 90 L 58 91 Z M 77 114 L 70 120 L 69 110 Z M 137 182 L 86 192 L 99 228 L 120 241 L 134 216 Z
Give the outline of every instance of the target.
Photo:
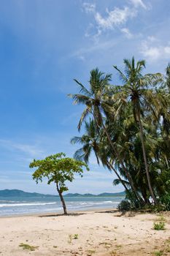
M 129 183 L 131 184 L 131 188 L 134 190 L 134 195 L 137 200 L 143 201 L 142 197 L 139 195 L 136 187 L 134 186 L 134 181 L 131 178 L 131 175 L 125 168 L 122 157 L 120 157 L 119 152 L 114 143 L 112 143 L 112 139 L 109 136 L 109 132 L 107 131 L 107 127 L 104 124 L 104 116 L 107 116 L 108 113 L 113 113 L 112 105 L 109 105 L 108 101 L 105 101 L 105 95 L 108 91 L 109 82 L 111 81 L 112 75 L 107 74 L 104 75 L 103 72 L 99 72 L 98 68 L 90 71 L 90 81 L 89 81 L 89 89 L 85 88 L 78 80 L 74 79 L 75 82 L 80 86 L 80 94 L 69 94 L 72 99 L 74 99 L 74 104 L 83 104 L 85 105 L 85 110 L 82 112 L 82 116 L 80 118 L 80 122 L 78 124 L 78 129 L 80 130 L 82 122 L 85 121 L 85 118 L 91 114 L 96 122 L 96 126 L 102 127 L 104 129 L 104 133 L 107 136 L 107 139 L 110 144 L 110 148 L 112 149 L 112 153 L 115 154 L 115 157 L 119 160 L 120 164 L 125 171 L 125 175 L 128 178 Z

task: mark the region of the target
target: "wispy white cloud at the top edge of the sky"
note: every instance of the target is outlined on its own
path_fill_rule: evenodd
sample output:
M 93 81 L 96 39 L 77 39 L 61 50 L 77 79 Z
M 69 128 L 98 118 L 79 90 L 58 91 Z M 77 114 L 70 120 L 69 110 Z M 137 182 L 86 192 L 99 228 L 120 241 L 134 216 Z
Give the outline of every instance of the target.
M 131 32 L 128 28 L 124 27 L 128 20 L 136 17 L 139 10 L 144 8 L 149 10 L 149 7 L 144 4 L 142 0 L 128 0 L 127 6 L 113 7 L 112 10 L 105 10 L 105 14 L 98 12 L 96 4 L 85 2 L 82 4 L 83 10 L 93 15 L 94 23 L 90 23 L 88 29 L 85 31 L 85 37 L 98 39 L 102 32 L 118 29 L 125 34 L 127 38 L 132 38 Z

